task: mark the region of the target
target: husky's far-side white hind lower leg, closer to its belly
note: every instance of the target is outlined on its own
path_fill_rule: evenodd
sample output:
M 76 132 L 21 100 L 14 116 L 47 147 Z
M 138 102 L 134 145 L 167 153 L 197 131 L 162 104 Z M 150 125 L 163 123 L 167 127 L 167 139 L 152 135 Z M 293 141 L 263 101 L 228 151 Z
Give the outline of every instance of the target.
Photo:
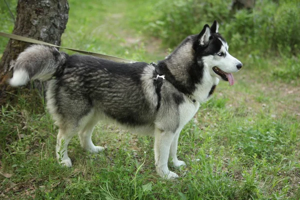
M 104 149 L 104 147 L 102 146 L 95 146 L 91 141 L 92 131 L 96 124 L 97 124 L 97 120 L 90 119 L 86 123 L 84 128 L 78 132 L 81 146 L 86 150 L 94 153 L 100 152 Z

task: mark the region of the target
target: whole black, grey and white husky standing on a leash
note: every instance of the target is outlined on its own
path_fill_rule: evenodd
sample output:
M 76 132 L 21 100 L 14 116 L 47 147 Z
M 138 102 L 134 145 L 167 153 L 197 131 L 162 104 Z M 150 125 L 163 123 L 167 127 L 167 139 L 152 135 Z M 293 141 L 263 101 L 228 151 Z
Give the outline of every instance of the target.
M 59 127 L 56 155 L 61 164 L 72 165 L 67 145 L 76 133 L 86 150 L 104 149 L 91 140 L 94 126 L 104 120 L 154 136 L 156 171 L 175 178 L 167 162 L 170 158 L 174 166 L 185 165 L 176 155 L 182 127 L 209 99 L 219 79 L 234 83 L 232 72 L 241 66 L 214 21 L 187 36 L 157 64 L 120 63 L 31 45 L 19 54 L 10 84 L 49 80 L 47 107 Z

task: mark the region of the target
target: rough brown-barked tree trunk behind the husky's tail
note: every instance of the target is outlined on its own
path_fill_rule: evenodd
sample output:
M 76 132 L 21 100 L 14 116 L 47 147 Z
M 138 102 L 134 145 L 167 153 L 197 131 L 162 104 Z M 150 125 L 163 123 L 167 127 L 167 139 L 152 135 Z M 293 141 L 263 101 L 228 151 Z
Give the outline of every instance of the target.
M 60 37 L 68 19 L 67 0 L 18 0 L 12 33 L 60 45 Z M 31 43 L 10 39 L 0 61 L 0 105 L 14 89 L 7 84 L 10 66 L 20 52 Z

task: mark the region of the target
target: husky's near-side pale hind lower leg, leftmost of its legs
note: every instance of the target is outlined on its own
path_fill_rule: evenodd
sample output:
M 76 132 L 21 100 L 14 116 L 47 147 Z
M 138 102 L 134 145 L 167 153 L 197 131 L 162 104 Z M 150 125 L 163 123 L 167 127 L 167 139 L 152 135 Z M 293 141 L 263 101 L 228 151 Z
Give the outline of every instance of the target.
M 60 127 L 57 134 L 56 157 L 60 164 L 71 167 L 71 159 L 67 155 L 67 145 L 74 136 L 75 131 L 72 127 Z

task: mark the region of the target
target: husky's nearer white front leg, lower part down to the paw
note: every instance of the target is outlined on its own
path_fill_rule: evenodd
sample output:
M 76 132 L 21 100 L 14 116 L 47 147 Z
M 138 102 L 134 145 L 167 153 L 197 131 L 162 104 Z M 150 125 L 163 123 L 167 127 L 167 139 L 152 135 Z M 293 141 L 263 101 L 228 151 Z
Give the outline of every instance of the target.
M 170 171 L 167 166 L 170 146 L 175 134 L 171 131 L 161 131 L 155 127 L 154 135 L 154 157 L 158 175 L 167 179 L 178 177 L 178 175 Z

